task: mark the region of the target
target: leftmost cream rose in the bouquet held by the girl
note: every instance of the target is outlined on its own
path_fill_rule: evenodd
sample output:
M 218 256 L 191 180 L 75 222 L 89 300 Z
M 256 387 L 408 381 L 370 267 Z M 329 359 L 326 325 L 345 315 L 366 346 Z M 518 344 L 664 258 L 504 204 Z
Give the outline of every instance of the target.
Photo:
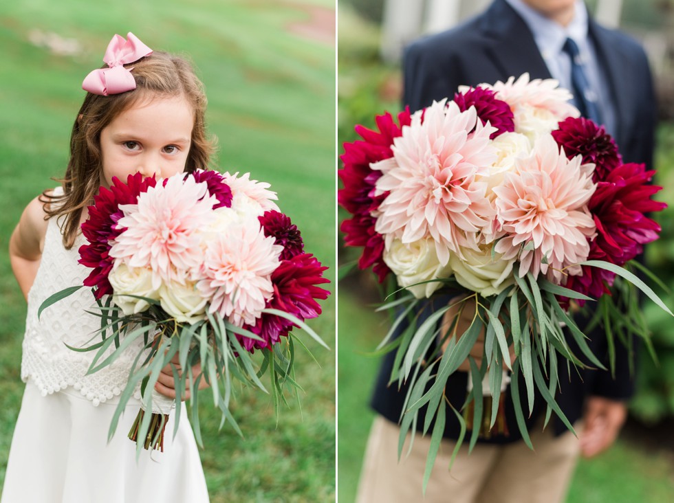
M 124 315 L 142 313 L 150 306 L 142 299 L 127 295 L 159 300 L 157 289 L 152 287 L 152 272 L 146 267 L 129 267 L 119 262 L 113 267 L 108 280 L 112 285 L 113 300 L 120 306 Z

